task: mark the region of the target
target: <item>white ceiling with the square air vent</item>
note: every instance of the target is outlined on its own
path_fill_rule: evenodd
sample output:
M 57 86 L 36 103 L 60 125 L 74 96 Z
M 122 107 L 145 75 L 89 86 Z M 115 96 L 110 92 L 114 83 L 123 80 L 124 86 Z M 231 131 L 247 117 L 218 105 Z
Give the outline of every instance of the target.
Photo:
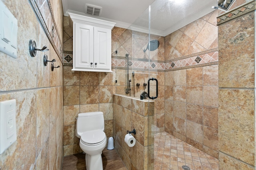
M 85 14 L 85 4 L 102 7 L 101 16 L 91 16 L 116 22 L 117 27 L 148 32 L 150 6 L 150 33 L 166 36 L 188 23 L 212 12 L 217 0 L 62 0 L 63 12 Z

